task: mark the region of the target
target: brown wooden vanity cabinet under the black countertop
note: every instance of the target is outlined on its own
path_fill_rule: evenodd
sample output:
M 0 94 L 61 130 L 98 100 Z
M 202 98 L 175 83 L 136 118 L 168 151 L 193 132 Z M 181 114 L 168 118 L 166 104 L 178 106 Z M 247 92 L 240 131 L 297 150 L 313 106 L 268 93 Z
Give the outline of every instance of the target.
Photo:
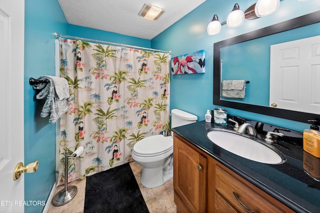
M 178 213 L 294 213 L 176 134 L 173 165 Z

